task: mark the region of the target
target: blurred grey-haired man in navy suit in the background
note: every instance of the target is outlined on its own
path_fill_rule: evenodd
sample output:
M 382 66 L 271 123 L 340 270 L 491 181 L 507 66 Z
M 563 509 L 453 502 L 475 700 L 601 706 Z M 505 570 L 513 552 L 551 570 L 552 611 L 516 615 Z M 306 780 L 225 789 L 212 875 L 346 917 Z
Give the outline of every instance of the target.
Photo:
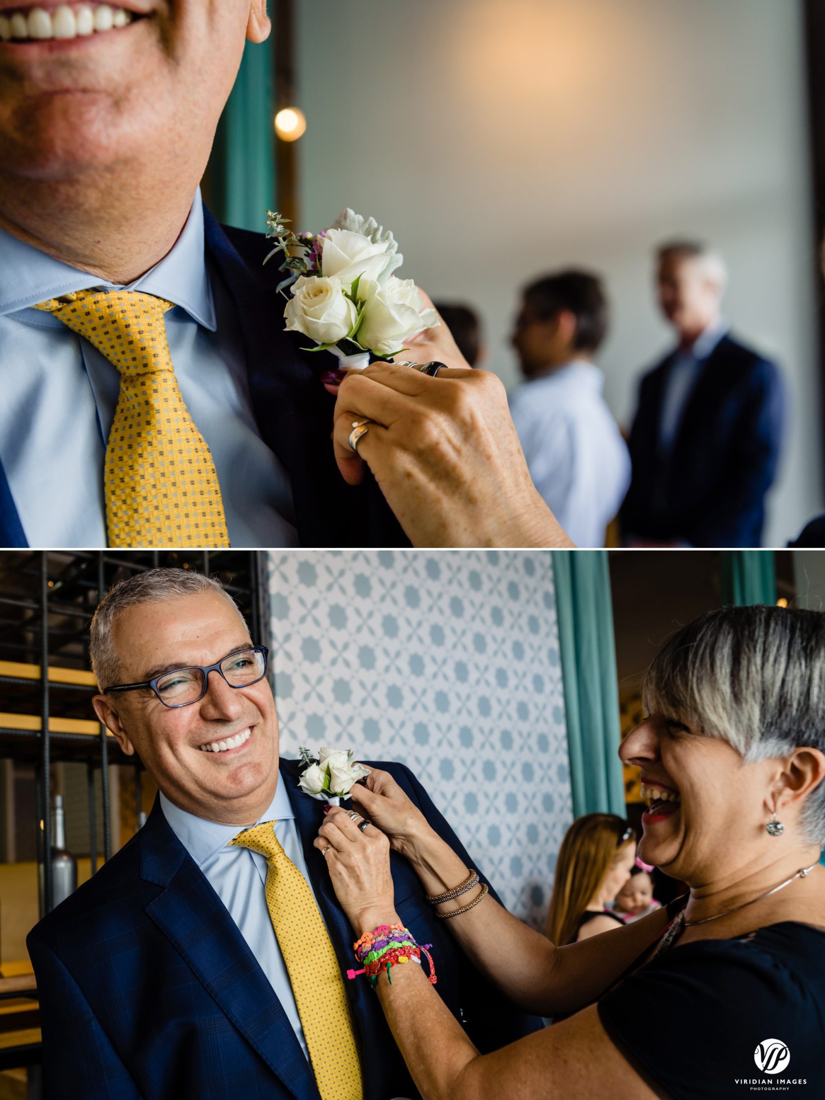
M 727 273 L 717 253 L 692 241 L 666 244 L 657 276 L 679 342 L 641 380 L 624 540 L 758 547 L 782 436 L 779 371 L 728 334 L 721 311 Z

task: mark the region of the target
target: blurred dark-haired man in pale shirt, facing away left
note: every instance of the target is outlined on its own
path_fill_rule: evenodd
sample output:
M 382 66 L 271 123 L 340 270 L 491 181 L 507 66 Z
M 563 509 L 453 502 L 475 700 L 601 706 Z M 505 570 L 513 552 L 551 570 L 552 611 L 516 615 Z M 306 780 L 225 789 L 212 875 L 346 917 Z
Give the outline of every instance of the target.
M 580 547 L 604 546 L 630 480 L 593 363 L 606 330 L 600 279 L 563 271 L 527 287 L 513 332 L 526 380 L 510 396 L 513 421 L 536 488 Z

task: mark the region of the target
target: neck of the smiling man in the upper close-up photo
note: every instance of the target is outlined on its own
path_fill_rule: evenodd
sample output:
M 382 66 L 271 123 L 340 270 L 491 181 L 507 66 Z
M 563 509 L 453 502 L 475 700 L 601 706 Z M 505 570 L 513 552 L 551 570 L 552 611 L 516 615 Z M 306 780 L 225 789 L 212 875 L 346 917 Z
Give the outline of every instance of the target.
M 37 180 L 0 172 L 0 229 L 79 271 L 125 285 L 169 252 L 197 180 L 141 179 L 113 170 L 95 178 Z

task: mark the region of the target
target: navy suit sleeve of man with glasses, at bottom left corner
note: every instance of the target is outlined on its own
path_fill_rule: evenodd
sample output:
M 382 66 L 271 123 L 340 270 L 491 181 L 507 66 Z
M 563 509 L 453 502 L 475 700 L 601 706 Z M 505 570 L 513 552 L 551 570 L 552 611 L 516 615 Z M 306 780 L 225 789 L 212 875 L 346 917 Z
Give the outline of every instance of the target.
M 140 1100 L 100 1021 L 57 956 L 36 936 L 26 946 L 37 978 L 48 1100 Z

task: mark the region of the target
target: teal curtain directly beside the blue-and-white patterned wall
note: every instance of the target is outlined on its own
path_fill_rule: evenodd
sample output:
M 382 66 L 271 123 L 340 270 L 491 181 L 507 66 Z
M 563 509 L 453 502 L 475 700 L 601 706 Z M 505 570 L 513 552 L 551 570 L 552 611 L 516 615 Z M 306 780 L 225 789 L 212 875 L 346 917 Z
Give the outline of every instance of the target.
M 607 553 L 553 550 L 573 813 L 625 816 Z

